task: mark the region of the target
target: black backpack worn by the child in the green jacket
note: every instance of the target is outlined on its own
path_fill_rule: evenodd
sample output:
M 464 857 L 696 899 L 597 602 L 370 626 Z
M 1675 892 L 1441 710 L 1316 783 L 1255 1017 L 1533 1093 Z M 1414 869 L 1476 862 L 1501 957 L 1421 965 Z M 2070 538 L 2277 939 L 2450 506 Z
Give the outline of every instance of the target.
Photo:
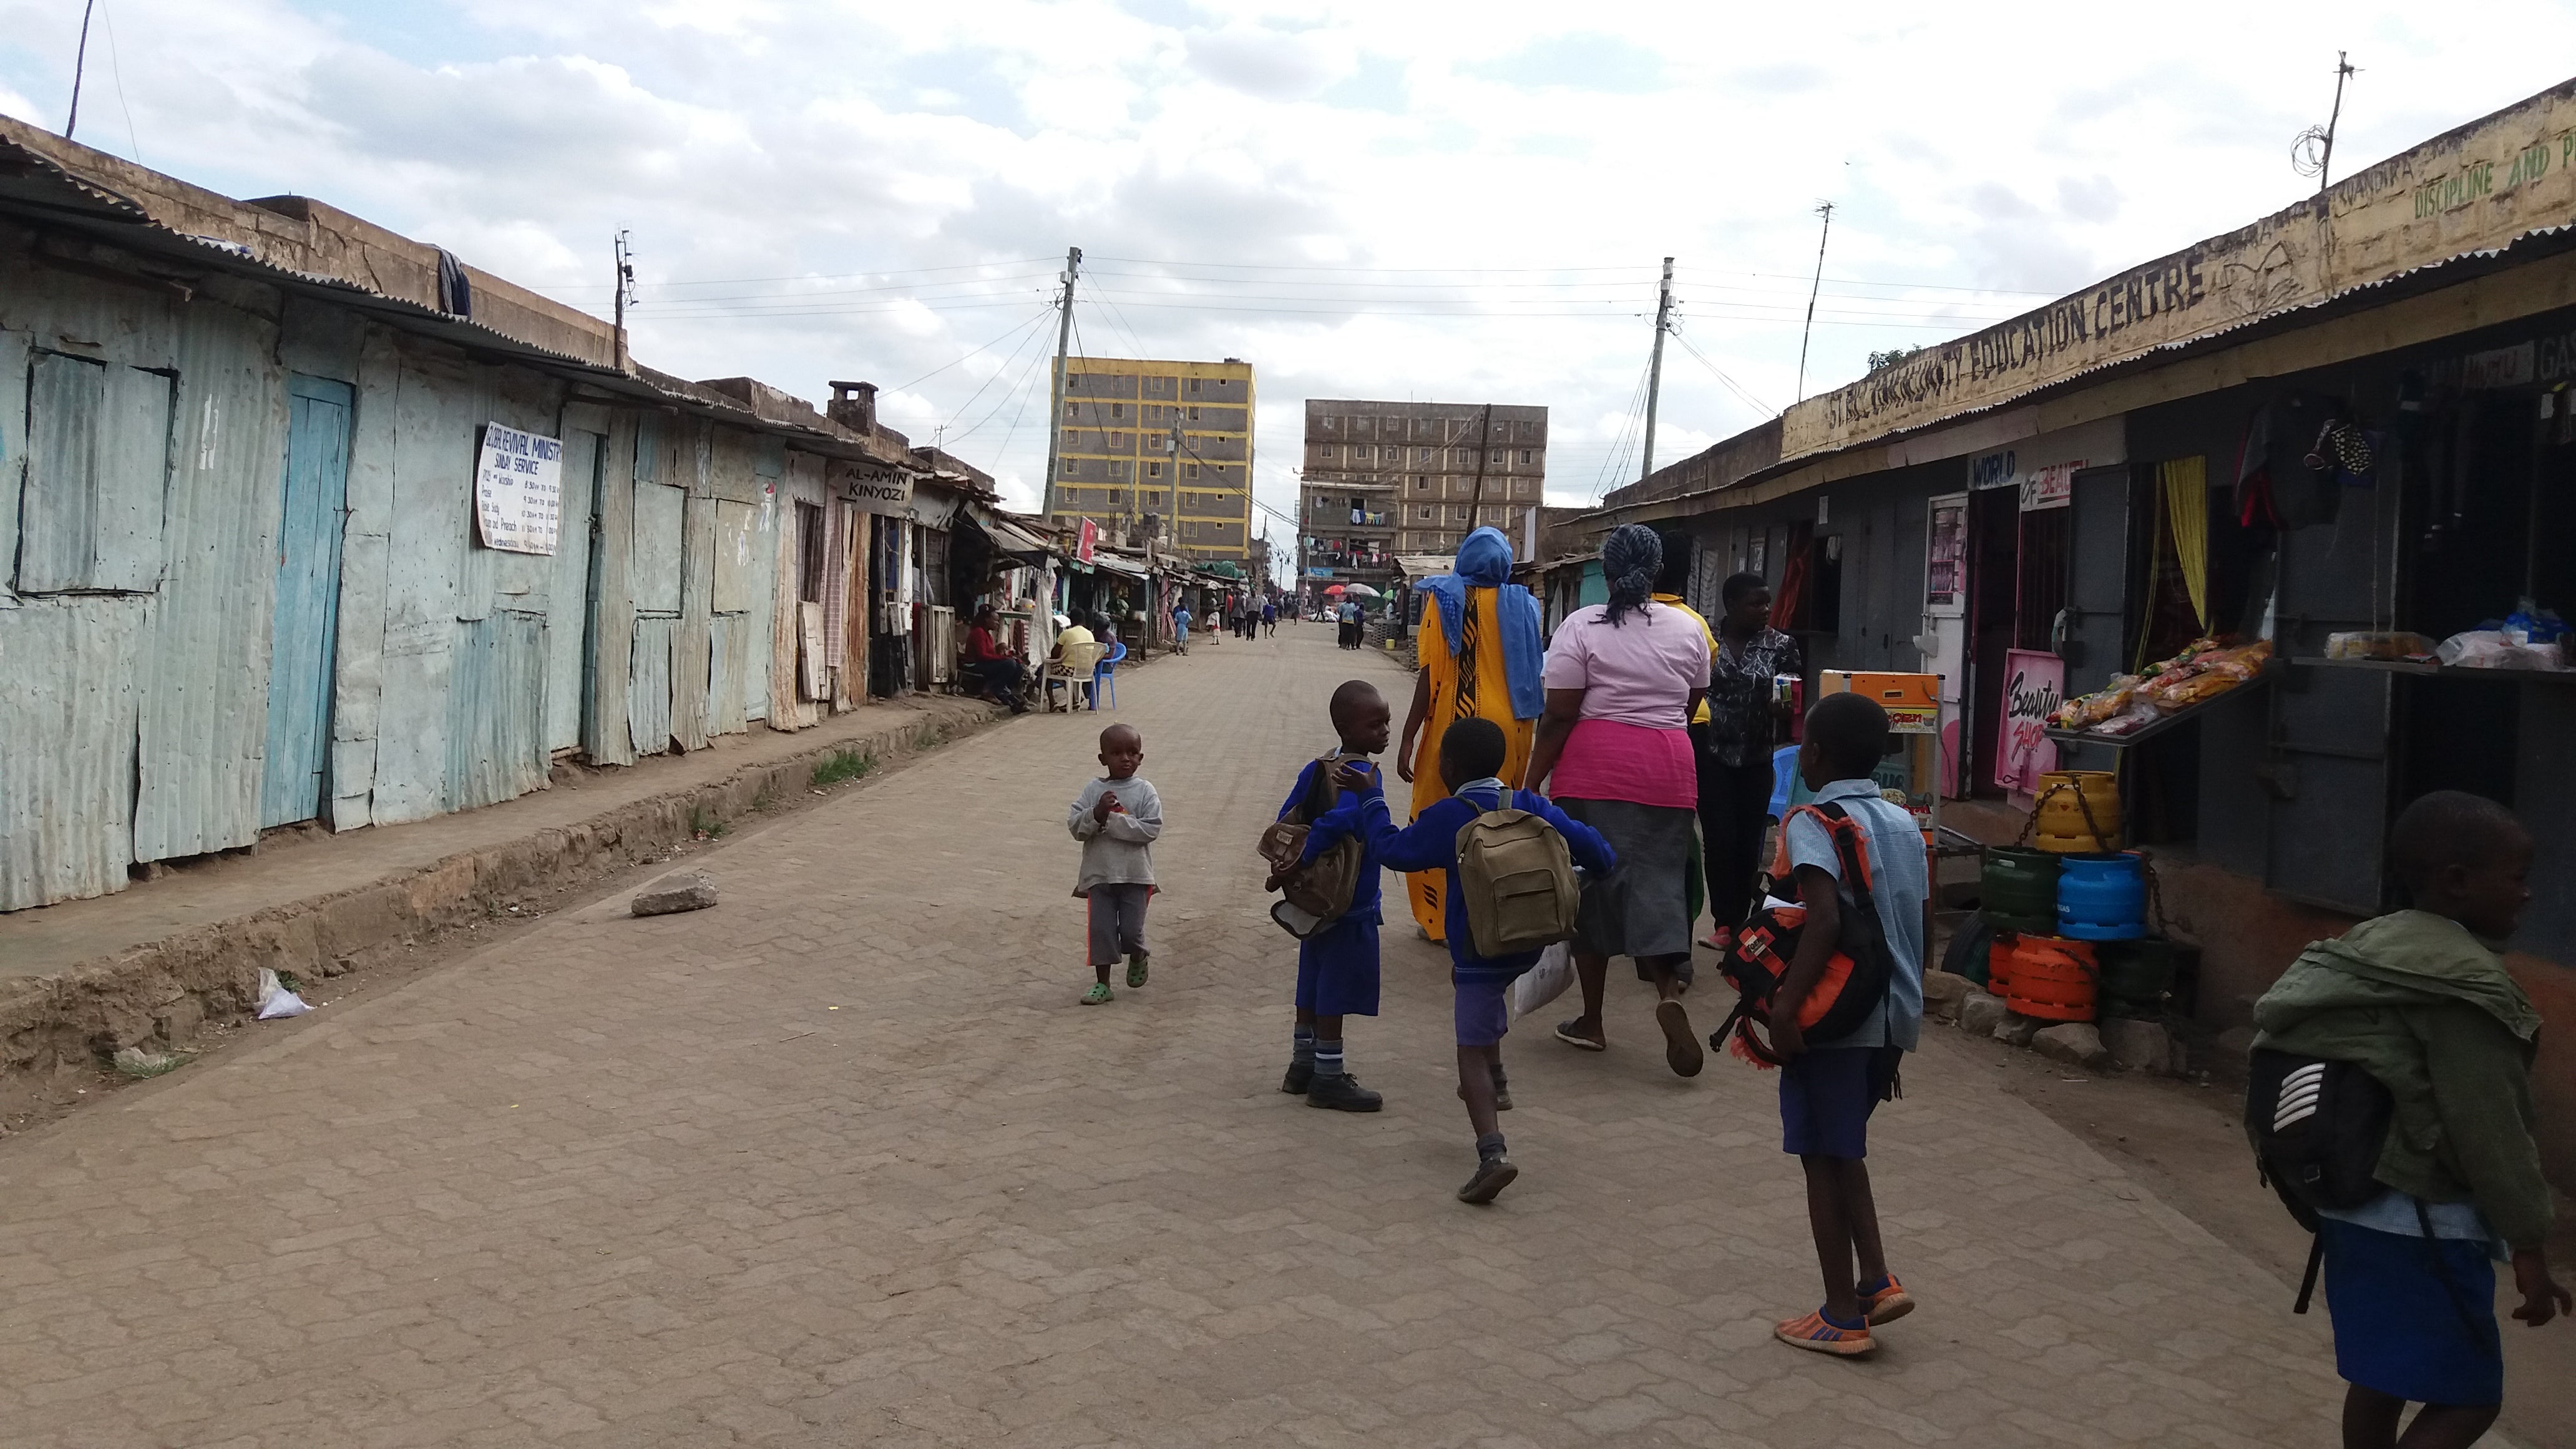
M 2257 1047 L 2246 1062 L 2246 1140 L 2254 1142 L 2254 1171 L 2308 1232 L 2316 1232 L 2318 1209 L 2362 1207 L 2388 1191 L 2375 1173 L 2393 1119 L 2396 1098 L 2360 1062 L 2272 1047 Z M 2434 1276 L 2442 1279 L 2452 1310 L 2476 1343 L 2483 1333 L 2460 1297 L 2460 1284 L 2442 1271 L 2432 1212 L 2424 1209 L 2424 1199 L 2414 1199 L 2414 1207 Z M 2290 1312 L 2308 1312 L 2324 1261 L 2326 1240 L 2318 1235 L 2308 1243 L 2308 1271 L 2298 1279 L 2298 1302 Z

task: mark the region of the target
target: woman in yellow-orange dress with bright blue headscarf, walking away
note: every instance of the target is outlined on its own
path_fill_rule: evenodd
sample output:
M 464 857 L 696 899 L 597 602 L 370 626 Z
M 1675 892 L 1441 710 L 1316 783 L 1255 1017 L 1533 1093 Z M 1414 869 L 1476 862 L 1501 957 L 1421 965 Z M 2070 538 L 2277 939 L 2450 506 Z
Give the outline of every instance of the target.
M 1458 547 L 1458 572 L 1417 583 L 1430 593 L 1422 629 L 1414 634 L 1422 670 L 1414 676 L 1414 704 L 1404 712 L 1404 740 L 1396 745 L 1396 773 L 1414 784 L 1414 815 L 1448 797 L 1440 781 L 1440 735 L 1455 719 L 1502 724 L 1507 745 L 1502 781 L 1517 786 L 1530 763 L 1538 714 L 1548 704 L 1540 668 L 1538 598 L 1512 583 L 1512 541 L 1502 529 L 1476 529 Z M 1445 941 L 1448 871 L 1404 877 L 1404 897 L 1414 923 L 1432 941 Z

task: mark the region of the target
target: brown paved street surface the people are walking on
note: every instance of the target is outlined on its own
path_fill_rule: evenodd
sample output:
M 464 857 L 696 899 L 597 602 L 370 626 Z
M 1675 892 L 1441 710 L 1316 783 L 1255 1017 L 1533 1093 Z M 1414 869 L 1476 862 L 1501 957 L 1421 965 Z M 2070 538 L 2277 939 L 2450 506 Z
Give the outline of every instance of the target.
M 1633 980 L 1605 1057 L 1515 1029 L 1492 1209 L 1409 923 L 1350 1031 L 1388 1109 L 1280 1096 L 1252 841 L 1350 673 L 1401 704 L 1314 624 L 1121 681 L 1170 830 L 1113 1006 L 1061 822 L 1108 714 L 1028 717 L 701 856 L 716 910 L 564 913 L 0 1142 L 0 1444 L 2334 1441 L 2324 1315 L 1953 1034 L 1873 1129 L 1922 1310 L 1860 1364 L 1770 1341 L 1819 1299 L 1772 1078 L 1672 1078 Z

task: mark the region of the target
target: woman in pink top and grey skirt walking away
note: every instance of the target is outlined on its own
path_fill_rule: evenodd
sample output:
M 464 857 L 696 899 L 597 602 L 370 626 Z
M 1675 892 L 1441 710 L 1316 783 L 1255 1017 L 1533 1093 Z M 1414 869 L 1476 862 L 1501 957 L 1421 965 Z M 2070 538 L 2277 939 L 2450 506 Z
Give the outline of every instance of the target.
M 1690 717 L 1708 694 L 1708 634 L 1651 598 L 1664 541 L 1628 523 L 1602 544 L 1610 603 L 1577 608 L 1548 642 L 1548 709 L 1530 745 L 1528 789 L 1600 830 L 1618 869 L 1584 884 L 1574 926 L 1574 972 L 1584 1013 L 1556 1039 L 1607 1047 L 1602 987 L 1610 957 L 1654 982 L 1664 1062 L 1700 1075 L 1700 1039 L 1682 1011 L 1680 967 L 1690 962 L 1690 848 L 1700 799 Z

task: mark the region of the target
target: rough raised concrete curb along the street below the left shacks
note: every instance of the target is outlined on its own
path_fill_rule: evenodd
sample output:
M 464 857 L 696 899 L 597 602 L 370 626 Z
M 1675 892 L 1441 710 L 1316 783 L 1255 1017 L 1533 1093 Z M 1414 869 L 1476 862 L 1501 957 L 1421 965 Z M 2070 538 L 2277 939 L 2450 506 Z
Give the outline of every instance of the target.
M 1002 714 L 974 699 L 925 696 L 917 714 L 871 735 L 817 740 L 724 779 L 459 851 L 368 884 L 273 905 L 49 977 L 0 985 L 0 1093 L 28 1078 L 98 1067 L 121 1047 L 178 1047 L 206 1021 L 250 1016 L 260 967 L 301 977 L 361 969 L 443 928 L 502 913 L 515 897 L 559 895 L 662 859 L 711 822 L 739 820 L 770 799 L 799 799 L 814 766 L 858 750 L 878 766 L 979 732 Z M 871 771 L 873 773 L 873 771 Z

